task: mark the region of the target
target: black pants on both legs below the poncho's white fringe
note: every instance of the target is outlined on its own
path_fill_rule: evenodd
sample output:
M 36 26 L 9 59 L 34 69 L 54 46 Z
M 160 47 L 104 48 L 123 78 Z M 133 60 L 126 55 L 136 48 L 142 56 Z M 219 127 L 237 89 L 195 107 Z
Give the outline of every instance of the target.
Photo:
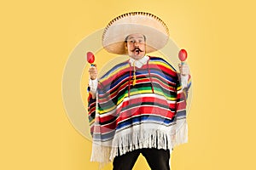
M 137 157 L 143 154 L 152 170 L 170 170 L 170 150 L 140 149 L 113 159 L 113 170 L 131 170 Z

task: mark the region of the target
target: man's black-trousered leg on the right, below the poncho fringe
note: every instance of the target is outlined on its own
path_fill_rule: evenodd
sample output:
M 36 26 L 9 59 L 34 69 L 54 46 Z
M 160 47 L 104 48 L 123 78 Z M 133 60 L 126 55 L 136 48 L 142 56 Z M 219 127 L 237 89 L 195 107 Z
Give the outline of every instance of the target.
M 142 149 L 151 170 L 170 170 L 170 150 Z

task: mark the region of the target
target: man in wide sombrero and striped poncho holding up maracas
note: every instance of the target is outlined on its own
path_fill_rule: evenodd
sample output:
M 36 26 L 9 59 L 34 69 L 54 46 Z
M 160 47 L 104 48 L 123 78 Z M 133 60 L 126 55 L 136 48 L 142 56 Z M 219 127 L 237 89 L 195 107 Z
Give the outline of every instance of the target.
M 129 59 L 100 78 L 96 67 L 89 70 L 91 161 L 131 170 L 142 153 L 151 169 L 169 170 L 172 148 L 187 142 L 189 68 L 179 65 L 178 74 L 165 59 L 146 55 L 167 40 L 166 25 L 153 14 L 123 14 L 108 24 L 103 47 Z M 187 79 L 186 87 L 180 77 Z

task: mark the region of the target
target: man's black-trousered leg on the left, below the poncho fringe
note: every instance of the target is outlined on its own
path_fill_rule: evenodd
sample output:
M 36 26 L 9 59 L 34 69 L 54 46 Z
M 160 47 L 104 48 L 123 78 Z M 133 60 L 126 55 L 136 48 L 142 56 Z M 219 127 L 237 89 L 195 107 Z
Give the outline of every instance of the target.
M 113 159 L 113 170 L 131 170 L 140 155 L 140 150 L 127 152 Z

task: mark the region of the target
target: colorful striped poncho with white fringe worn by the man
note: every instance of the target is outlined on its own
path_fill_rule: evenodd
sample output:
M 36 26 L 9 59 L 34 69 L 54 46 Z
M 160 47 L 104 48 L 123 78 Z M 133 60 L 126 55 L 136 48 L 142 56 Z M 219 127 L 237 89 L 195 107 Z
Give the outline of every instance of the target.
M 91 161 L 113 161 L 142 148 L 172 151 L 187 142 L 184 94 L 177 71 L 164 59 L 149 57 L 135 70 L 129 61 L 114 66 L 99 79 L 96 99 L 88 100 Z

